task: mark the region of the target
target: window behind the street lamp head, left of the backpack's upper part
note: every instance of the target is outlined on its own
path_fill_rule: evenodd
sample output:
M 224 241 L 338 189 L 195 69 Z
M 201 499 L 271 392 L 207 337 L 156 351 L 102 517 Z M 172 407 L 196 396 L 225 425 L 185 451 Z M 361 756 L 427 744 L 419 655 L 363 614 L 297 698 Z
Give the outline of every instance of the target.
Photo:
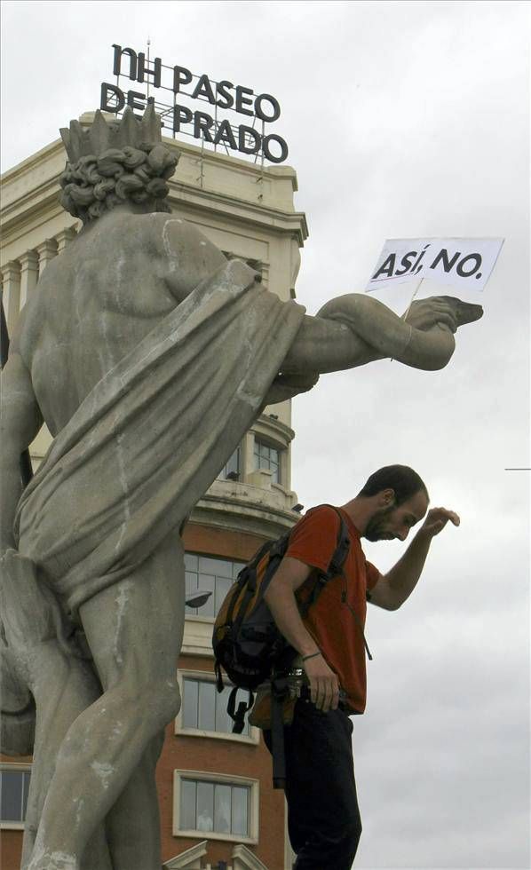
M 189 597 L 190 593 L 198 589 L 212 592 L 202 607 L 186 606 L 186 615 L 215 617 L 244 565 L 244 562 L 234 562 L 232 559 L 185 553 L 186 596 Z

